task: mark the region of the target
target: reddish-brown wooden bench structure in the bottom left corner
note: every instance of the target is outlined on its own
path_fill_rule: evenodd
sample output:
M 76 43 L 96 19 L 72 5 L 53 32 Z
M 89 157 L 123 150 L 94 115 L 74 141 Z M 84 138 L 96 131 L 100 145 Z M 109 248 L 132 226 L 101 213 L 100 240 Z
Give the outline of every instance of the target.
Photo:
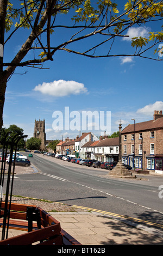
M 4 202 L 2 202 L 4 208 Z M 3 211 L 1 210 L 1 214 Z M 0 219 L 0 225 L 3 218 Z M 1 245 L 81 245 L 65 230 L 60 222 L 36 205 L 12 204 L 9 228 L 24 230 L 27 233 L 4 239 Z

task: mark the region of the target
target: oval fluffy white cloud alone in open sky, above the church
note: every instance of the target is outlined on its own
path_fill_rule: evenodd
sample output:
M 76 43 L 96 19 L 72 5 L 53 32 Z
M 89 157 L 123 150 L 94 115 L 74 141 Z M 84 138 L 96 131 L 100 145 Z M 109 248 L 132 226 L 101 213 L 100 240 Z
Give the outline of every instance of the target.
M 87 92 L 87 88 L 83 83 L 75 81 L 58 80 L 51 83 L 39 84 L 34 88 L 35 91 L 41 92 L 44 95 L 62 97 L 68 95 L 79 95 Z

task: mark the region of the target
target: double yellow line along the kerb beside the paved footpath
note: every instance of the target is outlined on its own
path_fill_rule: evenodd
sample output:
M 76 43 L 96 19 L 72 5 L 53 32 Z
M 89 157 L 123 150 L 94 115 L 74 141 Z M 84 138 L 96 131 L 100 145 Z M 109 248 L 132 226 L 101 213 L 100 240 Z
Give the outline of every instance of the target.
M 114 214 L 113 212 L 101 211 L 101 210 L 97 210 L 97 209 L 93 209 L 93 208 L 87 208 L 87 207 L 78 206 L 78 205 L 72 205 L 72 207 L 79 208 L 79 209 L 85 209 L 87 211 L 95 211 L 95 212 L 99 212 L 100 214 L 106 214 L 106 215 L 114 216 L 114 217 L 117 217 L 117 218 L 124 218 L 126 220 L 141 222 L 141 223 L 145 223 L 145 224 L 148 224 L 148 225 L 153 225 L 155 227 L 163 228 L 163 225 L 158 224 L 158 223 L 144 221 L 144 220 L 140 220 L 138 218 L 127 217 L 127 216 L 124 216 L 124 215 Z

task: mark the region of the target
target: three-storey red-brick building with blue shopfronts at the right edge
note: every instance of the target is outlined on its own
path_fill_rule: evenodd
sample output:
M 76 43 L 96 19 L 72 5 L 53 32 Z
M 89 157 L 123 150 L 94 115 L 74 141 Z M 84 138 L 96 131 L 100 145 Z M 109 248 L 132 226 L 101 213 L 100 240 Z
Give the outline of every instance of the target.
M 129 124 L 121 135 L 123 163 L 163 174 L 162 111 L 154 111 L 153 120 Z

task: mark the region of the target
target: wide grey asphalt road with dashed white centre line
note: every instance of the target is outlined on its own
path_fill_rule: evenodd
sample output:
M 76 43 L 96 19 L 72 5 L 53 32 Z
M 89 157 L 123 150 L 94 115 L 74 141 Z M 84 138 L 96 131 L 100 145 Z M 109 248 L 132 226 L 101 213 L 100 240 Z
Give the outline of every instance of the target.
M 37 154 L 30 161 L 39 172 L 16 175 L 12 194 L 98 209 L 157 223 L 163 229 L 162 177 L 109 178 L 108 171 L 65 166 L 62 160 L 53 162 Z

